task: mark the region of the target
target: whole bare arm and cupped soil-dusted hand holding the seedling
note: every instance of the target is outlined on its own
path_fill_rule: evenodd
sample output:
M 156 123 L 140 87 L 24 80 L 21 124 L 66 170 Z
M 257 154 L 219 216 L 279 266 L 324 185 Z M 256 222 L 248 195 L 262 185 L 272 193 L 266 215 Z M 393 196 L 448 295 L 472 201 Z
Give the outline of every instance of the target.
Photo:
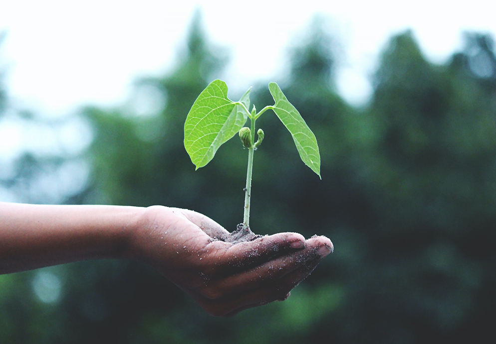
M 232 316 L 276 300 L 332 252 L 325 236 L 277 233 L 237 244 L 205 215 L 178 208 L 0 202 L 0 273 L 86 259 L 137 259 L 209 314 Z

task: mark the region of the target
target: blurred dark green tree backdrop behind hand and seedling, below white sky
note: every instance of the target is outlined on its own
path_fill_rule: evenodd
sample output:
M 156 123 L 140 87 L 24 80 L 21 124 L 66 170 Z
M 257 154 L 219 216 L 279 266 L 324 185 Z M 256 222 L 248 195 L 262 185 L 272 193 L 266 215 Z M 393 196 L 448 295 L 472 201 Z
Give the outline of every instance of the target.
M 247 151 L 232 139 L 195 171 L 183 147 L 186 115 L 225 75 L 229 51 L 209 40 L 201 11 L 189 20 L 176 63 L 137 78 L 122 104 L 39 115 L 3 83 L 0 199 L 160 204 L 234 230 Z M 252 229 L 323 234 L 335 245 L 288 300 L 214 318 L 146 265 L 77 262 L 0 276 L 0 343 L 494 340 L 494 36 L 466 32 L 460 49 L 434 63 L 413 31 L 397 32 L 371 72 L 370 99 L 357 106 L 336 90 L 342 55 L 327 20 L 311 21 L 286 50 L 286 73 L 260 78 L 251 93 L 258 109 L 271 105 L 267 84 L 278 82 L 320 147 L 322 180 L 274 115 L 258 120 L 265 139 L 254 157 Z

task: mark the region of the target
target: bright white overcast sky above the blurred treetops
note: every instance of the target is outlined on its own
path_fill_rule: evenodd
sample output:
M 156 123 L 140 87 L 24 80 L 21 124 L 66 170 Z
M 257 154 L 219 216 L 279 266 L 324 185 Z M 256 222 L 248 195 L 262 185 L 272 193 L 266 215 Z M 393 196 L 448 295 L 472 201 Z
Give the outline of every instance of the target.
M 229 48 L 228 85 L 248 89 L 280 75 L 291 40 L 316 13 L 331 19 L 343 51 L 338 90 L 352 104 L 370 94 L 368 76 L 388 38 L 412 28 L 434 62 L 461 47 L 461 32 L 496 33 L 496 4 L 472 1 L 114 1 L 0 0 L 3 80 L 14 104 L 62 115 L 83 104 L 112 106 L 133 79 L 172 68 L 195 8 L 209 40 Z M 227 5 L 226 5 L 227 4 Z

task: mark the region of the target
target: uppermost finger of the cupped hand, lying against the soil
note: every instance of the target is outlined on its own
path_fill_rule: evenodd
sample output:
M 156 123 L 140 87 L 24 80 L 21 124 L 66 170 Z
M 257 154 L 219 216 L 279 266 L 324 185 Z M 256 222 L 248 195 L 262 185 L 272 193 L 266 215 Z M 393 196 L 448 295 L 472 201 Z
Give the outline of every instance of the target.
M 213 242 L 212 244 L 215 244 Z M 305 238 L 299 233 L 277 233 L 259 237 L 252 241 L 227 246 L 219 252 L 218 278 L 245 271 L 274 257 L 305 247 Z

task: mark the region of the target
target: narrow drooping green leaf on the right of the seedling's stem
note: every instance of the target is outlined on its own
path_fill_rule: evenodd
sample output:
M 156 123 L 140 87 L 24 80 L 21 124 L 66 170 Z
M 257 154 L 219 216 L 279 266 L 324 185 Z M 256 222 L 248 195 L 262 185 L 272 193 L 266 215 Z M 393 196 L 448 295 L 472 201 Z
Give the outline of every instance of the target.
M 268 84 L 268 89 L 275 101 L 272 110 L 291 133 L 301 160 L 322 179 L 320 177 L 320 153 L 315 135 L 276 83 Z

